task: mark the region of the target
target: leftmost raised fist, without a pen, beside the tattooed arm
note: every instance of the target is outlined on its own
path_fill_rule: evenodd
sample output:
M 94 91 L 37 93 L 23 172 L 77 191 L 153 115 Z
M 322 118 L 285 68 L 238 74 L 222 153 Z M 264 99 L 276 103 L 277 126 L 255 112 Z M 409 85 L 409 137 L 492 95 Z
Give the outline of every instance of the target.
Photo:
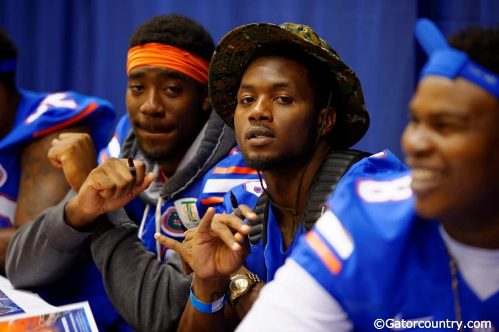
M 88 174 L 97 167 L 92 138 L 86 133 L 61 133 L 52 140 L 47 157 L 52 166 L 62 169 L 67 183 L 76 192 Z

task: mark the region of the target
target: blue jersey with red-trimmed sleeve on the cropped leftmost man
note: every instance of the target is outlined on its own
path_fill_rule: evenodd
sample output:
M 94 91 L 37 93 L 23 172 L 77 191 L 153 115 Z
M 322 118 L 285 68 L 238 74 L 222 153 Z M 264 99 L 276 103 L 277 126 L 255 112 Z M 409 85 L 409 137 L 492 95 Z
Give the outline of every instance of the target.
M 85 122 L 97 151 L 107 141 L 115 111 L 106 100 L 76 92 L 19 90 L 12 130 L 0 141 L 0 227 L 12 227 L 20 181 L 20 145 Z

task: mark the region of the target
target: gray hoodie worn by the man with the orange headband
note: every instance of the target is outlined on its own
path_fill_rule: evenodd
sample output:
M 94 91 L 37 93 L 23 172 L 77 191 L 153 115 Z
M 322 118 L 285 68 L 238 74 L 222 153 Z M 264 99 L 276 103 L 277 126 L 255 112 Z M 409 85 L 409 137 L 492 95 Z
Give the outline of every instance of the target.
M 170 200 L 228 155 L 234 132 L 212 112 L 196 156 L 163 185 L 161 200 Z M 131 131 L 121 155 L 131 155 Z M 135 331 L 175 331 L 189 298 L 191 277 L 185 276 L 177 254 L 158 261 L 137 238 L 137 225 L 123 209 L 100 216 L 92 232 L 78 232 L 64 222 L 70 191 L 57 206 L 21 227 L 7 250 L 7 278 L 16 288 L 35 288 L 63 280 L 76 266 L 96 264 L 106 293 Z M 141 196 L 143 200 L 146 198 Z M 157 202 L 147 201 L 148 204 Z

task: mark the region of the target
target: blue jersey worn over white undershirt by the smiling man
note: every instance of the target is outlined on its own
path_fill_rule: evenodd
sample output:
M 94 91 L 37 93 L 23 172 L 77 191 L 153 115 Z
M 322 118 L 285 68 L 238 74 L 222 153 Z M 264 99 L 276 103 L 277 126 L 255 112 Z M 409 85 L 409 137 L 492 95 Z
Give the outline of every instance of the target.
M 416 215 L 410 183 L 409 169 L 389 151 L 356 163 L 291 256 L 343 307 L 355 331 L 376 331 L 377 319 L 456 319 L 439 223 Z M 499 327 L 499 294 L 481 301 L 461 275 L 458 281 L 463 321 Z

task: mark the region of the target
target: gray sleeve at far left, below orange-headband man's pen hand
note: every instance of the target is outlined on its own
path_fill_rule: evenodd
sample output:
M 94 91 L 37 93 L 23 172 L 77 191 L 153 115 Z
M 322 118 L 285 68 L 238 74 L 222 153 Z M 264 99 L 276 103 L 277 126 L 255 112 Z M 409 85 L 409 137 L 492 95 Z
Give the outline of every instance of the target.
M 90 233 L 64 222 L 64 206 L 76 195 L 70 190 L 56 206 L 19 228 L 7 248 L 6 274 L 16 288 L 44 286 L 69 270 Z

